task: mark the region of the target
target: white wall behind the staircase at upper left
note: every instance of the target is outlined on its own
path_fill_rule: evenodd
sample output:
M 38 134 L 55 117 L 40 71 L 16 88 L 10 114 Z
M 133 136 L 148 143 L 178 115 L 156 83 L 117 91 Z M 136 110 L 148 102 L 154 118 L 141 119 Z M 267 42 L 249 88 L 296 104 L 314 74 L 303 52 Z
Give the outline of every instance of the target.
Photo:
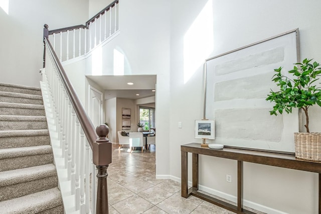
M 44 24 L 52 30 L 83 24 L 87 17 L 88 0 L 9 1 L 9 15 L 0 8 L 0 81 L 39 87 Z

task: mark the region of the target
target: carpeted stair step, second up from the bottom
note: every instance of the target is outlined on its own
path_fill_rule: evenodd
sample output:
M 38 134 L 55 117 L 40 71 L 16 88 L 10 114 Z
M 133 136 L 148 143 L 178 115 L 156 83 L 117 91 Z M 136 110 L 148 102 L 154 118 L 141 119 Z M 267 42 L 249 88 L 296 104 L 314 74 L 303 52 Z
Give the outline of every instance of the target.
M 58 186 L 53 164 L 0 172 L 0 201 L 10 200 Z

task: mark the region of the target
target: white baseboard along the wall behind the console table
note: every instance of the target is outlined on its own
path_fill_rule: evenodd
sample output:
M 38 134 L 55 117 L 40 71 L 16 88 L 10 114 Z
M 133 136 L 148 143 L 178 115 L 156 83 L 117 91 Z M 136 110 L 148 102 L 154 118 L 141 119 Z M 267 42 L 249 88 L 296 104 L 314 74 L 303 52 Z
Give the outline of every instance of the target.
M 177 182 L 181 183 L 181 178 L 173 176 L 173 175 L 156 175 L 156 178 L 157 179 L 171 179 L 171 180 L 174 180 L 174 181 L 177 181 Z M 189 181 L 188 185 L 192 186 L 192 181 Z M 204 186 L 204 185 L 200 185 L 199 184 L 199 190 L 202 190 L 202 191 L 205 191 L 207 193 L 219 196 L 221 198 L 227 199 L 227 200 L 232 201 L 232 202 L 237 202 L 236 196 L 228 194 L 228 193 L 225 193 L 225 192 L 222 192 L 222 191 L 219 191 L 219 190 L 216 190 L 216 189 L 209 188 L 209 187 Z M 259 210 L 259 211 L 262 211 L 262 212 L 265 212 L 265 213 L 269 213 L 269 214 L 287 214 L 286 212 L 283 212 L 283 211 L 280 211 L 280 210 L 277 210 L 277 209 L 273 209 L 271 207 L 264 206 L 262 204 L 258 204 L 258 203 L 255 203 L 253 201 L 249 201 L 249 200 L 246 200 L 246 199 L 243 199 L 243 205 L 247 206 L 247 207 L 251 207 L 251 208 Z

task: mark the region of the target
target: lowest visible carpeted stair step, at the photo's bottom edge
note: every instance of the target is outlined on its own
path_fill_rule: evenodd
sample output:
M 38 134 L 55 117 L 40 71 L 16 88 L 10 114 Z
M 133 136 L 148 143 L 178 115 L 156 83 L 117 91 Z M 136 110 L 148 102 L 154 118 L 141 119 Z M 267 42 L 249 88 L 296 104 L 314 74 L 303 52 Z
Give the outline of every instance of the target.
M 64 213 L 57 187 L 0 202 L 2 213 Z

